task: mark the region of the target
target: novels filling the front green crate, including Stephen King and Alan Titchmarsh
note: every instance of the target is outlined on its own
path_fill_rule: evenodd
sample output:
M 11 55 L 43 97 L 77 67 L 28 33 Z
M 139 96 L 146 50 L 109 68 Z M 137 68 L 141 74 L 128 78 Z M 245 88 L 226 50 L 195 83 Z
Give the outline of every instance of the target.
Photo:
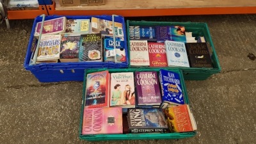
M 164 69 L 87 74 L 82 134 L 196 131 L 182 83 Z

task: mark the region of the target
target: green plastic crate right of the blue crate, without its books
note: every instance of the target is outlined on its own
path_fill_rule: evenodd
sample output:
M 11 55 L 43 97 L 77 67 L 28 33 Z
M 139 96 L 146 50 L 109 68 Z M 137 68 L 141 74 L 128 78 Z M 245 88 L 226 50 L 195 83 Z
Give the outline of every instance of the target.
M 205 39 L 211 45 L 212 49 L 212 64 L 213 68 L 186 68 L 186 67 L 176 67 L 180 68 L 183 72 L 185 80 L 205 80 L 212 74 L 217 74 L 221 71 L 220 63 L 212 43 L 209 28 L 206 23 L 203 22 L 151 22 L 151 21 L 132 21 L 127 20 L 127 44 L 128 49 L 130 49 L 130 38 L 129 38 L 129 26 L 185 26 L 186 31 L 192 32 L 194 37 L 205 36 Z M 129 51 L 130 58 L 130 51 Z M 129 67 L 131 67 L 129 63 Z M 152 67 L 145 67 L 152 68 Z M 167 67 L 170 69 L 171 67 Z M 173 67 L 172 67 L 173 68 Z

